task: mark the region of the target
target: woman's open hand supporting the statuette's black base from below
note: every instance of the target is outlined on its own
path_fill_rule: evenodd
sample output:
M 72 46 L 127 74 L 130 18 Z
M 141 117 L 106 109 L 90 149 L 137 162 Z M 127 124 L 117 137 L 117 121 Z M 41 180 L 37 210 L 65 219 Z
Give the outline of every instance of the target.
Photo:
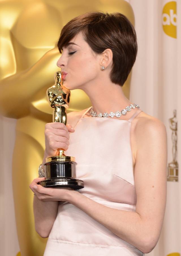
M 36 197 L 41 201 L 69 201 L 72 193 L 75 193 L 73 188 L 45 188 L 38 185 L 38 182 L 45 180 L 44 178 L 36 178 L 31 184 L 30 188 L 35 193 Z M 73 191 L 69 191 L 73 190 Z

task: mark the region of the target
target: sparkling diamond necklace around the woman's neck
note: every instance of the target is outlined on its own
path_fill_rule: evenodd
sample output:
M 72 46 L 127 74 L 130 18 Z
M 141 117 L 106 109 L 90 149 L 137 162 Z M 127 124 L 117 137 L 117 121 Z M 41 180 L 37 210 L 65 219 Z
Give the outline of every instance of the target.
M 121 111 L 117 111 L 115 113 L 110 112 L 109 114 L 108 113 L 104 113 L 104 114 L 99 113 L 99 114 L 97 114 L 94 111 L 93 107 L 91 107 L 91 116 L 92 117 L 120 117 L 121 115 L 126 115 L 127 112 L 131 111 L 131 109 L 135 108 L 135 107 L 139 108 L 139 106 L 135 103 L 130 104 L 129 106 L 125 107 L 125 109 L 122 109 Z

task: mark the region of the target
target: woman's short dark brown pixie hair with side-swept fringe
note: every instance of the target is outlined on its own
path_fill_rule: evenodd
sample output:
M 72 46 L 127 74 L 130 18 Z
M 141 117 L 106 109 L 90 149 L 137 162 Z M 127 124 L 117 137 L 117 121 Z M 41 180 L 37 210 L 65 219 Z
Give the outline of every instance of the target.
M 79 32 L 91 49 L 101 54 L 106 49 L 113 52 L 110 79 L 123 86 L 137 55 L 136 32 L 132 23 L 123 14 L 88 12 L 70 20 L 62 29 L 58 40 L 60 53 Z

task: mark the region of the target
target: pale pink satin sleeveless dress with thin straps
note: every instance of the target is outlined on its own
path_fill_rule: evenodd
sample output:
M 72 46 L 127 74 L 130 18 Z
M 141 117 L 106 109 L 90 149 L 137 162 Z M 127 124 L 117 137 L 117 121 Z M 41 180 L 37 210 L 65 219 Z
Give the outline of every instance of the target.
M 85 117 L 90 110 L 71 112 L 70 145 L 65 152 L 76 158 L 76 177 L 86 197 L 110 208 L 135 211 L 136 192 L 130 145 L 131 121 Z M 131 112 L 130 112 L 131 113 Z M 72 120 L 72 121 L 71 121 Z M 71 122 L 70 122 L 71 121 Z M 44 256 L 132 256 L 144 254 L 113 234 L 81 209 L 60 202 Z

